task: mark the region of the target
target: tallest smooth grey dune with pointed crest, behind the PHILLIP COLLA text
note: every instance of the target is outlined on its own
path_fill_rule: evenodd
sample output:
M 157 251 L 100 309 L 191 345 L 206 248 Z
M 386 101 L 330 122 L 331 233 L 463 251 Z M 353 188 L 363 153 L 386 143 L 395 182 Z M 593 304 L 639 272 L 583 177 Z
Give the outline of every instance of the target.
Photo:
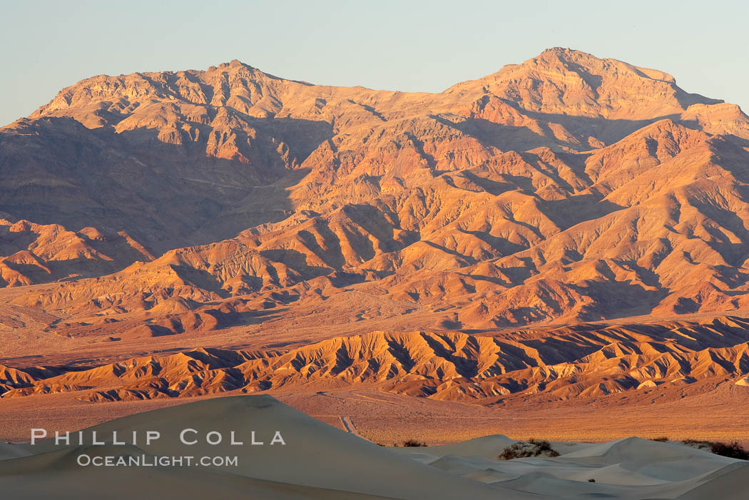
M 237 430 L 237 438 L 244 433 L 246 445 L 231 446 L 225 442 L 221 445 L 207 445 L 202 442 L 186 447 L 178 442 L 175 435 L 175 430 L 183 428 L 198 430 L 198 434 L 202 436 L 210 430 L 218 430 L 227 438 L 231 430 Z M 454 475 L 444 475 L 433 467 L 393 454 L 386 448 L 315 421 L 268 396 L 204 400 L 130 415 L 91 430 L 96 430 L 100 435 L 118 430 L 120 436 L 129 435 L 132 430 L 160 431 L 164 438 L 159 442 L 152 443 L 151 446 L 139 445 L 140 449 L 149 454 L 173 456 L 189 452 L 195 456 L 237 456 L 238 466 L 217 467 L 208 471 L 232 477 L 398 499 L 423 498 L 425 484 L 434 488 L 431 495 L 434 499 L 455 499 L 463 495 L 476 499 L 525 498 L 502 496 L 501 490 L 498 492 L 494 487 Z M 287 444 L 266 444 L 261 447 L 249 445 L 250 430 L 255 430 L 258 439 L 263 439 L 266 443 L 270 441 L 273 432 L 279 430 Z M 171 437 L 168 438 L 170 434 Z M 34 447 L 26 445 L 25 448 L 35 452 L 59 453 L 54 451 L 53 442 L 39 443 Z M 42 454 L 33 458 L 44 456 Z M 13 462 L 16 461 L 10 463 Z M 16 474 L 17 471 L 13 472 L 13 475 Z M 214 482 L 208 481 L 208 484 Z M 231 491 L 222 492 L 222 496 L 219 498 L 232 498 Z

